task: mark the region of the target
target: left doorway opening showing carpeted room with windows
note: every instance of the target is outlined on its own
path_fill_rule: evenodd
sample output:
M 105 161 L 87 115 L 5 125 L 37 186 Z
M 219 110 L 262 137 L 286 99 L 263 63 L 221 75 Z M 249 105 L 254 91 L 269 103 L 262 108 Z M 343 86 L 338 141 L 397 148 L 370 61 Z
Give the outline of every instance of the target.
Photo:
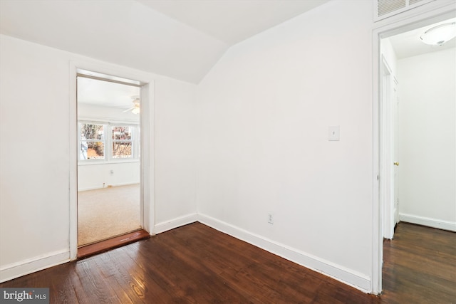
M 140 87 L 78 70 L 78 257 L 149 236 L 142 230 Z

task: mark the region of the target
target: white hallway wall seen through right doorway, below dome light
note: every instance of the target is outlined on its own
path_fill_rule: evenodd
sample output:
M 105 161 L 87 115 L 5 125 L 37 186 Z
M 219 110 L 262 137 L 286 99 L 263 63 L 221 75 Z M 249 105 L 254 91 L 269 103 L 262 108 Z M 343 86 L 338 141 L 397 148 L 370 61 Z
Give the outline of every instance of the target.
M 456 231 L 456 49 L 400 59 L 402 221 Z

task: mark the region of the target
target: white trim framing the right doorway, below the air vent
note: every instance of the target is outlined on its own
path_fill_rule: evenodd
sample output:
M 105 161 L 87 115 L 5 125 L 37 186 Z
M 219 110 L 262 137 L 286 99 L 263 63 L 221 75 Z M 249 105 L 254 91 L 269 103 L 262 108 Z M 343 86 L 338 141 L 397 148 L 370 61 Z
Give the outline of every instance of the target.
M 391 177 L 382 175 L 382 168 L 385 167 L 380 155 L 383 154 L 383 146 L 381 145 L 382 135 L 385 134 L 381 125 L 383 115 L 380 110 L 381 100 L 381 80 L 383 78 L 383 60 L 380 52 L 380 41 L 383 38 L 411 31 L 415 28 L 444 21 L 446 19 L 454 18 L 456 15 L 456 7 L 454 2 L 442 1 L 440 3 L 431 2 L 424 6 L 420 6 L 416 10 L 406 12 L 403 16 L 397 16 L 394 19 L 384 19 L 373 27 L 373 226 L 372 226 L 372 270 L 371 270 L 371 293 L 379 295 L 382 292 L 382 270 L 383 270 L 383 214 L 384 206 L 382 204 L 382 197 L 385 193 L 385 187 L 390 187 Z M 389 120 L 391 117 L 387 117 Z M 380 180 L 385 187 L 380 188 Z M 392 189 L 390 189 L 392 191 Z

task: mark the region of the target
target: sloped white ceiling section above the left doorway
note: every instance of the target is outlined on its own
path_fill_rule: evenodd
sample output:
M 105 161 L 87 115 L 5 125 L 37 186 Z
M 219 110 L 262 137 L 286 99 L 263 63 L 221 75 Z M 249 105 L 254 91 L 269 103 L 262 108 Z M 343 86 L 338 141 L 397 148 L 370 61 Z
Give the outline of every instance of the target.
M 134 0 L 1 0 L 0 33 L 191 83 L 228 47 Z

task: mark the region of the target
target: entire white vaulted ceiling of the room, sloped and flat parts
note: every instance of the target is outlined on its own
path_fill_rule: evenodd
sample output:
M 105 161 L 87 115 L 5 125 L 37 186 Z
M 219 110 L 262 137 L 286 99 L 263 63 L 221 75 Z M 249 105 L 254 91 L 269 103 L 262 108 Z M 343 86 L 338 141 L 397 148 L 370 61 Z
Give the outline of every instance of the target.
M 0 33 L 199 83 L 227 49 L 328 0 L 1 0 Z

